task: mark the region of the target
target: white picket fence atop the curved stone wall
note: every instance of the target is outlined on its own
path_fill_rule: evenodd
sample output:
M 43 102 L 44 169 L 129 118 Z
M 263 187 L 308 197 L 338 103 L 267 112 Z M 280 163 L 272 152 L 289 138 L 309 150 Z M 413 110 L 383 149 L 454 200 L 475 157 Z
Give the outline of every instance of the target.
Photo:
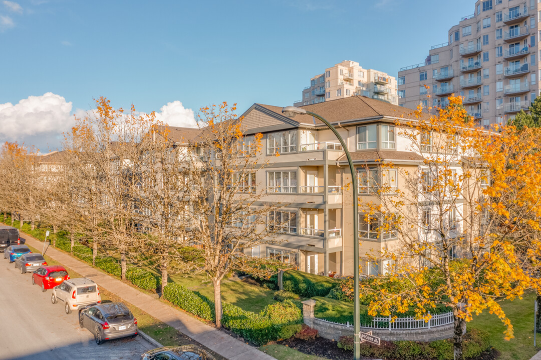
M 430 314 L 430 313 L 429 313 Z M 335 323 L 333 321 L 327 321 L 325 319 L 317 318 L 320 321 L 324 321 L 331 324 L 346 325 L 347 327 L 353 327 L 353 324 Z M 392 321 L 391 316 L 388 317 L 374 317 L 371 323 L 361 324 L 362 328 L 368 329 L 388 329 L 388 330 L 413 330 L 413 329 L 431 329 L 443 325 L 452 324 L 454 322 L 453 312 L 441 313 L 432 315 L 430 320 L 424 321 L 411 317 L 398 317 Z

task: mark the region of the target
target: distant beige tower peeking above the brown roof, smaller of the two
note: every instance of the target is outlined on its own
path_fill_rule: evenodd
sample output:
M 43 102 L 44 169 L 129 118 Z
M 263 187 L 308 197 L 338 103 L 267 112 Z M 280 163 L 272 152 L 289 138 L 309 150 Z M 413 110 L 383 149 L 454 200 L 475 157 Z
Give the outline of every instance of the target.
M 302 99 L 295 101 L 294 105 L 319 104 L 354 95 L 398 105 L 396 78 L 344 60 L 310 79 L 310 86 L 302 90 Z

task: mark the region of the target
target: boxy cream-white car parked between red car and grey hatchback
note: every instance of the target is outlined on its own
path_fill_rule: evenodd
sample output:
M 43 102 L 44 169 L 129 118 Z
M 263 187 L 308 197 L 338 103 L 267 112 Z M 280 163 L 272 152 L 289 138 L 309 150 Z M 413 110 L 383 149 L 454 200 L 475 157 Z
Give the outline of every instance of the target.
M 100 288 L 86 277 L 64 280 L 52 288 L 51 302 L 63 303 L 65 313 L 70 314 L 72 310 L 84 308 L 88 304 L 101 303 Z

